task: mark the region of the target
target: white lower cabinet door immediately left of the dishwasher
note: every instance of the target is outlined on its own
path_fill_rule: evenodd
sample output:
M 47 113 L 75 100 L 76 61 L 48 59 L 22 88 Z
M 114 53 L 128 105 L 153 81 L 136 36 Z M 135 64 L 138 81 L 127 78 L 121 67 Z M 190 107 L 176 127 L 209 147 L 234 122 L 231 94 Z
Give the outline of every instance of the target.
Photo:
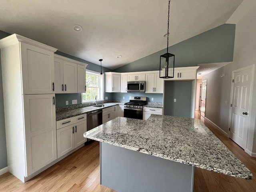
M 87 141 L 87 138 L 84 138 L 84 133 L 87 131 L 87 121 L 76 123 L 74 124 L 74 127 L 75 127 L 74 148 L 76 148 Z

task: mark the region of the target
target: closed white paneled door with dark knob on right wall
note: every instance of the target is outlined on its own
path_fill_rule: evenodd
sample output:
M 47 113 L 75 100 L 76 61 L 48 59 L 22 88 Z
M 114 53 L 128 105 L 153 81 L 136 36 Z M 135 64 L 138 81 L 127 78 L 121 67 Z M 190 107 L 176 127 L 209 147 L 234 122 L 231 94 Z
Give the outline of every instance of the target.
M 243 149 L 246 148 L 248 133 L 251 71 L 247 68 L 233 73 L 230 138 Z

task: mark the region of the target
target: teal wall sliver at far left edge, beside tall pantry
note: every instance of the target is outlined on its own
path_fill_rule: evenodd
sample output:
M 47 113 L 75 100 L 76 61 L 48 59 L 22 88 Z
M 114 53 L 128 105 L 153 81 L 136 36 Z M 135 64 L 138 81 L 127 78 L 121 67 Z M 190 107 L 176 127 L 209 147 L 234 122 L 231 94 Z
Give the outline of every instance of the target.
M 0 30 L 0 39 L 9 36 L 9 33 Z M 2 64 L 0 54 L 0 169 L 7 167 L 7 152 L 4 125 L 4 98 L 2 83 Z

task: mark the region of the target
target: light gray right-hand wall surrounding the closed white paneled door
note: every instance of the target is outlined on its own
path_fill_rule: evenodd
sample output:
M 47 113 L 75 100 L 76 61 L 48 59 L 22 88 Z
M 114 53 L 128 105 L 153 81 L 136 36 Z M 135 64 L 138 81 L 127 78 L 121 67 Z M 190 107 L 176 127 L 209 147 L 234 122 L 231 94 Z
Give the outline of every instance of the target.
M 255 4 L 254 4 L 255 5 Z M 207 80 L 205 116 L 228 133 L 232 71 L 256 64 L 256 14 L 248 10 L 236 22 L 234 60 L 232 63 L 203 76 Z M 255 68 L 256 69 L 256 68 Z M 225 74 L 220 78 L 220 74 Z M 252 104 L 246 150 L 256 153 L 256 70 L 254 70 Z M 228 104 L 225 104 L 225 100 Z M 254 154 L 255 155 L 255 154 Z

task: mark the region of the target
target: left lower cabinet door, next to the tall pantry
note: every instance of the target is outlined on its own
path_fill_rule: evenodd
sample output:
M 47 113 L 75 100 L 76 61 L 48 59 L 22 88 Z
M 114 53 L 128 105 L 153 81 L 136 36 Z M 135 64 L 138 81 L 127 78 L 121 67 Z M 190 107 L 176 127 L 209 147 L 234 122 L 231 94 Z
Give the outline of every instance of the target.
M 57 130 L 58 158 L 74 149 L 74 125 Z

